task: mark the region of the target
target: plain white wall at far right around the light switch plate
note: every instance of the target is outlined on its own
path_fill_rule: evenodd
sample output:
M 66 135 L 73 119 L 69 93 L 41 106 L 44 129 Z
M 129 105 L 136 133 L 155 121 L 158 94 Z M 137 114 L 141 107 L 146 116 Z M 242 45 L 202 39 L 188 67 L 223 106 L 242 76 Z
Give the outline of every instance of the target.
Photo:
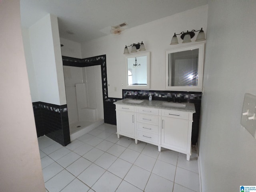
M 255 185 L 256 140 L 240 124 L 256 95 L 255 0 L 209 1 L 200 126 L 202 191 Z

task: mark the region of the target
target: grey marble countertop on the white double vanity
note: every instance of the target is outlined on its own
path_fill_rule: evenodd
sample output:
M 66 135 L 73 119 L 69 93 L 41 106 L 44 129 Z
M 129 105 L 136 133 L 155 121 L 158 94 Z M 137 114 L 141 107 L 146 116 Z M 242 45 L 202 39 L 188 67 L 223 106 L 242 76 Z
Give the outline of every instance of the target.
M 181 108 L 181 107 L 174 107 L 174 106 L 165 106 L 165 105 L 163 105 L 163 103 L 167 103 L 166 101 L 143 100 L 143 102 L 141 102 L 141 103 L 132 103 L 132 102 L 129 102 L 131 100 L 132 100 L 132 102 L 140 102 L 140 101 L 142 101 L 142 100 L 126 98 L 126 99 L 122 99 L 122 100 L 116 101 L 116 102 L 114 102 L 114 104 L 115 105 L 116 104 L 120 104 L 120 105 L 136 106 L 136 107 L 150 107 L 150 108 L 177 110 L 177 111 L 185 111 L 185 112 L 192 112 L 192 113 L 196 112 L 194 103 L 184 103 L 184 102 L 182 102 L 182 104 L 186 104 L 186 107 L 182 107 Z M 172 102 L 170 102 L 170 104 L 172 104 Z

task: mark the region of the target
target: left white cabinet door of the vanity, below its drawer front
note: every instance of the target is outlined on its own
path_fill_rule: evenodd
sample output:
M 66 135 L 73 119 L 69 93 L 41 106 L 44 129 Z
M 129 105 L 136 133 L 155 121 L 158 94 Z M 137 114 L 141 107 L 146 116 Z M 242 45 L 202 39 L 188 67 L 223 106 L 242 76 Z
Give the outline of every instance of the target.
M 134 112 L 116 111 L 117 114 L 117 130 L 118 133 L 124 136 L 134 138 Z

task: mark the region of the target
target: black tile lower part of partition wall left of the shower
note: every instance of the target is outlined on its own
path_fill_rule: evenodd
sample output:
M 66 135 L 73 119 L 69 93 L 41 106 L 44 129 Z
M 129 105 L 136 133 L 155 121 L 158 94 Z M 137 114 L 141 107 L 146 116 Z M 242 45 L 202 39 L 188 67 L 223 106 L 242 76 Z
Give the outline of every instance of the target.
M 70 143 L 67 105 L 34 102 L 33 109 L 38 137 L 46 135 L 63 146 Z

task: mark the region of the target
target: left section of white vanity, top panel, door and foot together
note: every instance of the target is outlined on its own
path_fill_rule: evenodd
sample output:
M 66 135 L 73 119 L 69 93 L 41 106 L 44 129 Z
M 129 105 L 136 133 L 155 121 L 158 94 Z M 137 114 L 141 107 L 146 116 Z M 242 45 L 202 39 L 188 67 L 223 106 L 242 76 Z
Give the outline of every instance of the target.
M 134 106 L 117 105 L 116 110 L 117 136 L 135 138 L 135 114 Z

